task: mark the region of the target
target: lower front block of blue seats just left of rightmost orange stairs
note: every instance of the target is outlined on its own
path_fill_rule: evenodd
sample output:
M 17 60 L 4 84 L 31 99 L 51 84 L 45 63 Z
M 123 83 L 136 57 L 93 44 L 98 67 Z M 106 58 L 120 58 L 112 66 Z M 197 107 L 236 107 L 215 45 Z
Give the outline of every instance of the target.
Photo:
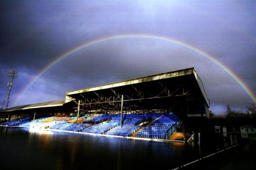
M 137 131 L 140 128 L 140 126 L 134 126 L 134 125 L 124 125 L 116 126 L 113 129 L 110 129 L 110 131 L 106 132 L 106 135 L 114 135 L 114 136 L 130 136 L 132 133 Z

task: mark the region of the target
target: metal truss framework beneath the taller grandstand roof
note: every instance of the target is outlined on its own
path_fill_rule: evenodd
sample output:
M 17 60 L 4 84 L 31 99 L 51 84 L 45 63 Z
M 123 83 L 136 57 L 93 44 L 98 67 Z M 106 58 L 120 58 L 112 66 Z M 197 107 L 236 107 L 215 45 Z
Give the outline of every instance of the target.
M 157 100 L 190 95 L 189 90 L 184 86 L 174 86 L 168 88 L 161 81 L 159 81 L 158 84 L 160 88 L 158 88 L 157 91 L 154 90 L 153 92 L 143 91 L 139 87 L 131 85 L 129 92 L 127 93 L 119 92 L 114 88 L 109 88 L 107 90 L 108 93 L 106 91 L 93 91 L 89 95 L 86 93 L 80 93 L 79 100 L 81 101 L 81 104 L 79 104 L 79 106 L 81 106 L 81 110 L 105 109 L 118 111 L 121 108 L 123 95 L 123 102 L 125 103 L 126 110 L 140 108 L 149 109 L 148 111 L 150 111 L 150 109 L 159 108 L 159 104 L 156 102 Z M 76 100 L 74 101 L 76 102 Z M 143 103 L 147 103 L 147 106 L 143 107 L 145 106 Z

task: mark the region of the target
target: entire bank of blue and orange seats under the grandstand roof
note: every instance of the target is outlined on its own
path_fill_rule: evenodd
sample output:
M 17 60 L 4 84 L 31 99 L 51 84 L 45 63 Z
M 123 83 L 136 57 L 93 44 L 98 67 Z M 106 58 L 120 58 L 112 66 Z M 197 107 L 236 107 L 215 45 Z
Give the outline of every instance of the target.
M 70 123 L 76 122 L 76 117 L 70 116 L 44 117 L 33 122 L 31 122 L 31 119 L 32 117 L 27 117 L 21 120 L 13 120 L 3 125 L 22 125 L 34 128 L 50 127 L 51 129 L 73 132 L 167 139 L 168 135 L 175 131 L 174 128 L 176 126 L 173 125 L 179 121 L 179 118 L 173 114 L 124 114 L 123 127 L 121 128 L 119 125 L 121 115 L 114 114 L 84 116 L 78 120 L 78 122 L 83 121 L 84 123 L 78 125 Z M 110 121 L 106 122 L 107 120 Z M 140 123 L 143 123 L 143 125 L 138 126 Z

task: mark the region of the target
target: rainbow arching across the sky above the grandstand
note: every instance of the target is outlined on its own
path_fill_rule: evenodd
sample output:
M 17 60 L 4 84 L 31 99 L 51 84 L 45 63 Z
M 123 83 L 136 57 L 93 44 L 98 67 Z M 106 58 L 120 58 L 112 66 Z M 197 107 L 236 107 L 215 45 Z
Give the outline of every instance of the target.
M 161 41 L 166 41 L 166 42 L 171 42 L 183 47 L 186 47 L 187 49 L 191 50 L 191 51 L 195 51 L 198 54 L 204 56 L 206 59 L 209 59 L 210 61 L 212 61 L 213 63 L 217 64 L 217 66 L 219 66 L 221 69 L 223 69 L 224 71 L 227 72 L 228 75 L 230 75 L 242 88 L 243 90 L 250 96 L 251 100 L 256 103 L 256 96 L 255 94 L 252 92 L 252 90 L 243 82 L 243 80 L 241 78 L 239 78 L 235 72 L 233 72 L 231 69 L 229 69 L 225 64 L 221 63 L 219 60 L 215 59 L 212 55 L 207 54 L 206 52 L 199 50 L 198 48 L 189 45 L 185 42 L 181 42 L 178 41 L 177 39 L 173 39 L 173 38 L 169 38 L 169 37 L 163 37 L 163 36 L 158 36 L 158 35 L 148 35 L 148 34 L 122 34 L 122 35 L 113 35 L 113 36 L 107 36 L 107 37 L 101 37 L 98 39 L 94 39 L 92 41 L 86 42 L 84 44 L 78 45 L 75 48 L 72 48 L 71 50 L 59 55 L 57 58 L 55 58 L 52 62 L 50 62 L 49 64 L 47 64 L 41 71 L 38 72 L 38 74 L 36 76 L 34 76 L 30 82 L 25 86 L 25 88 L 23 88 L 23 90 L 18 94 L 17 98 L 14 101 L 14 104 L 17 103 L 17 101 L 19 101 L 19 99 L 21 98 L 21 96 L 23 96 L 23 94 L 25 94 L 25 92 L 28 90 L 28 88 L 33 85 L 35 83 L 35 81 L 41 77 L 48 69 L 52 68 L 53 66 L 55 66 L 55 64 L 57 64 L 58 62 L 60 62 L 61 60 L 65 59 L 67 56 L 82 50 L 83 48 L 86 47 L 90 47 L 94 44 L 98 44 L 101 42 L 106 42 L 106 41 L 111 41 L 114 39 L 124 39 L 124 38 L 150 38 L 150 39 L 158 39 Z

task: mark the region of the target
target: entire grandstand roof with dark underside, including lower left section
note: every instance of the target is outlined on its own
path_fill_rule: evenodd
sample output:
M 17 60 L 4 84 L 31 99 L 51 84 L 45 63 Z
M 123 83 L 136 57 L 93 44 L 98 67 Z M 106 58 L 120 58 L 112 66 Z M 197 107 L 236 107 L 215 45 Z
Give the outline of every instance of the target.
M 40 108 L 51 110 L 62 106 L 74 108 L 74 103 L 70 101 L 78 103 L 78 100 L 84 110 L 119 110 L 122 95 L 125 108 L 131 110 L 173 108 L 190 101 L 203 101 L 206 106 L 210 106 L 201 79 L 194 68 L 188 68 L 69 91 L 66 92 L 65 100 L 28 104 L 2 112 L 33 111 Z

